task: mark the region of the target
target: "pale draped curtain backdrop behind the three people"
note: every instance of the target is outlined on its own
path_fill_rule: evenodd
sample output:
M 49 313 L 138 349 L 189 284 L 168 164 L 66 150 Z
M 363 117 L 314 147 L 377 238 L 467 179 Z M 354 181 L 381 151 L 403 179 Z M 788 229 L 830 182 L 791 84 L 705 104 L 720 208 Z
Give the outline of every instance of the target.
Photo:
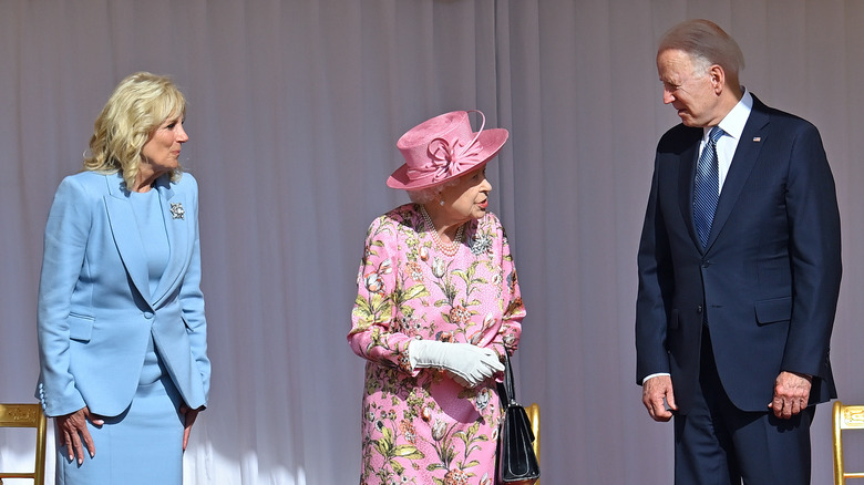
M 671 483 L 672 427 L 635 383 L 635 255 L 654 148 L 678 122 L 655 45 L 695 17 L 738 39 L 753 93 L 822 132 L 845 269 L 832 358 L 841 398 L 864 402 L 861 0 L 0 0 L 0 401 L 33 401 L 58 183 L 122 78 L 171 74 L 214 368 L 186 483 L 358 483 L 363 362 L 344 336 L 364 231 L 407 200 L 384 186 L 399 135 L 480 109 L 511 131 L 491 206 L 528 311 L 515 361 L 543 409 L 542 482 Z M 831 479 L 829 430 L 822 405 L 814 483 Z M 25 447 L 0 437 L 0 466 Z

